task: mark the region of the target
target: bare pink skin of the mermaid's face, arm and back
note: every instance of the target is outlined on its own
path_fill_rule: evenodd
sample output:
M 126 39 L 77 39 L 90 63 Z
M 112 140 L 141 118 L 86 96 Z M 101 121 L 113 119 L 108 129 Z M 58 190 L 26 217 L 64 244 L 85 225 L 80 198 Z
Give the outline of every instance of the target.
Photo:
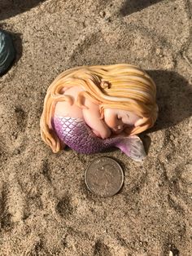
M 94 134 L 102 139 L 124 136 L 125 128 L 131 129 L 131 127 L 139 126 L 142 123 L 142 117 L 116 108 L 104 109 L 104 118 L 101 119 L 98 104 L 94 104 L 90 99 L 85 99 L 86 108 L 79 108 L 75 104 L 75 100 L 81 91 L 80 86 L 72 86 L 65 90 L 64 95 L 69 95 L 73 99 L 73 103 L 59 102 L 55 106 L 55 115 L 81 118 L 93 130 Z

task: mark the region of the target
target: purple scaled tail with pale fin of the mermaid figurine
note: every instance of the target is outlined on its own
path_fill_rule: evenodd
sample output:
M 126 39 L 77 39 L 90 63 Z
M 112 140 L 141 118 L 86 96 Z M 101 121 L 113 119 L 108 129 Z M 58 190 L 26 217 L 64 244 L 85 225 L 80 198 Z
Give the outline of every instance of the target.
M 59 139 L 76 152 L 91 154 L 116 147 L 135 161 L 142 161 L 146 157 L 142 140 L 136 135 L 100 139 L 82 119 L 55 116 L 53 121 Z

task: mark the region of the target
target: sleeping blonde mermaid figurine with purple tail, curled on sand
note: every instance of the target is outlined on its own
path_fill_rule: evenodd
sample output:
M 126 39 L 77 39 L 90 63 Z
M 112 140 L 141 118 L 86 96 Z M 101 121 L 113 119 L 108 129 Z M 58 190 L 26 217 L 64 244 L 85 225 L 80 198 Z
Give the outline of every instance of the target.
M 154 126 L 156 87 L 130 64 L 82 66 L 51 83 L 41 115 L 41 138 L 53 152 L 66 145 L 91 154 L 120 148 L 135 161 L 146 153 L 137 134 Z

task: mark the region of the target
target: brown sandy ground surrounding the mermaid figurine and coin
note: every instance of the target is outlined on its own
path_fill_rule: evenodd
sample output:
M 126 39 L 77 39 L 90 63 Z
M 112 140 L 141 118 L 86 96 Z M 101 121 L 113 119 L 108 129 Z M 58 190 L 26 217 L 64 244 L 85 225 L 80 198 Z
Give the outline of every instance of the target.
M 0 77 L 0 255 L 192 255 L 191 2 L 0 0 L 17 57 Z M 54 154 L 39 119 L 50 82 L 82 64 L 136 64 L 154 78 L 159 119 L 143 163 L 119 150 Z M 85 168 L 113 157 L 124 187 L 102 199 Z

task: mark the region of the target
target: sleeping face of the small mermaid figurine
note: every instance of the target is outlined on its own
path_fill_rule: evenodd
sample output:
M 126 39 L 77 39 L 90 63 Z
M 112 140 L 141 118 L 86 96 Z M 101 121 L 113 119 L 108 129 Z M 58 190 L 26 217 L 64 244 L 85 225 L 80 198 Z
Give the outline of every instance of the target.
M 104 109 L 104 121 L 107 126 L 116 134 L 119 134 L 124 128 L 137 126 L 141 117 L 133 112 L 116 108 Z

